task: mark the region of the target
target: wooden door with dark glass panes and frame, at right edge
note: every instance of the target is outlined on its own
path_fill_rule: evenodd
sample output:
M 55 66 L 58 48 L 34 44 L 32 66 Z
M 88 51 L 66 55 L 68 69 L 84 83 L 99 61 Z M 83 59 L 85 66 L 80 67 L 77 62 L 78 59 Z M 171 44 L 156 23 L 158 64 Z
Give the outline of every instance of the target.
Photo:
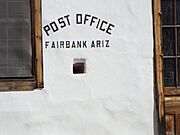
M 154 0 L 155 86 L 161 129 L 180 134 L 180 0 Z M 163 134 L 161 130 L 161 134 Z

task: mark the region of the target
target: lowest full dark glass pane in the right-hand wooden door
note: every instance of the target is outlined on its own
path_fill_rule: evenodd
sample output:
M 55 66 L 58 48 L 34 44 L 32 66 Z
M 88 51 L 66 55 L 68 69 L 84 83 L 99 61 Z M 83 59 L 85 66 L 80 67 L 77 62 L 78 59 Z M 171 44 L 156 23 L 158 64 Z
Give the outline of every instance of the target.
M 175 86 L 176 72 L 175 72 L 175 59 L 164 59 L 163 60 L 163 77 L 164 86 L 170 87 Z

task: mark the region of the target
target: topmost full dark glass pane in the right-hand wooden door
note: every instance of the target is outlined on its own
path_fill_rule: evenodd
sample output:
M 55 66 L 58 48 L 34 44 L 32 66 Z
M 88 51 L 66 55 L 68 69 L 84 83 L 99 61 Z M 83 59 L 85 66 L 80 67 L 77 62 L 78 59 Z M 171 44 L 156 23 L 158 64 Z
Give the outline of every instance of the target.
M 162 24 L 174 23 L 174 2 L 173 0 L 162 0 Z

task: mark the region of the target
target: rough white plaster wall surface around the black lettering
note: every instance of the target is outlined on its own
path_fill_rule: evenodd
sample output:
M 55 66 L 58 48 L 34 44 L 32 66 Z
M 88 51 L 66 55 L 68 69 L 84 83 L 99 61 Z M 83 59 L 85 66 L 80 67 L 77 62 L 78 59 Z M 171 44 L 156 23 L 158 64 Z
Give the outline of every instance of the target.
M 151 0 L 43 0 L 42 9 L 43 26 L 87 13 L 115 28 L 43 32 L 45 88 L 0 93 L 0 135 L 153 135 Z M 47 40 L 92 39 L 110 48 L 45 49 Z M 86 74 L 72 74 L 74 58 L 86 58 Z

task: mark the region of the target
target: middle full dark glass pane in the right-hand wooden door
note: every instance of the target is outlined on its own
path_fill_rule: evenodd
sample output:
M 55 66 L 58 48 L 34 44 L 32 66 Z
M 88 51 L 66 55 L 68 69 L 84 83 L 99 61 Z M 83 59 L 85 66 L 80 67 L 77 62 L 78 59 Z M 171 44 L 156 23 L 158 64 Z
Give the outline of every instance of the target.
M 174 37 L 174 29 L 173 28 L 164 28 L 162 29 L 163 34 L 163 55 L 165 56 L 173 56 L 175 55 L 175 37 Z

